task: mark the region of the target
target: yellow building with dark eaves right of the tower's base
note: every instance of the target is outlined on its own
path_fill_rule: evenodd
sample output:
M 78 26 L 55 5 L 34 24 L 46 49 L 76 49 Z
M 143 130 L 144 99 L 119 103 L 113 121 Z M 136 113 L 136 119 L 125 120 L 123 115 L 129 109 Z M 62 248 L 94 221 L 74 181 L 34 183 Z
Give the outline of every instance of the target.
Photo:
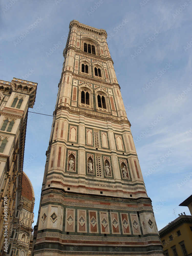
M 159 231 L 166 256 L 192 255 L 192 217 L 180 215 Z

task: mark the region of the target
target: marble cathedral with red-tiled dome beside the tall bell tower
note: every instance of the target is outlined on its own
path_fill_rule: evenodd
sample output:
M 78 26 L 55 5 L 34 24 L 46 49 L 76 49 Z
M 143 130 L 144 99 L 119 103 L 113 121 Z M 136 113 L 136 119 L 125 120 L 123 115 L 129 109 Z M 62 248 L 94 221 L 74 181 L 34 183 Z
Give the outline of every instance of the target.
M 0 80 L 0 250 L 1 255 L 29 256 L 34 190 L 23 172 L 28 109 L 37 83 Z

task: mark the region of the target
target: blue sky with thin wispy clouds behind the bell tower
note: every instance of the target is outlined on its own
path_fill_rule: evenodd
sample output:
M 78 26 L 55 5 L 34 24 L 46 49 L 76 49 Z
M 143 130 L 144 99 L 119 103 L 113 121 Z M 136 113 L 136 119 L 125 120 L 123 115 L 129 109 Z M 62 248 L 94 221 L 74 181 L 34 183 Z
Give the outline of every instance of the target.
M 70 21 L 107 31 L 159 230 L 175 219 L 173 209 L 177 217 L 189 214 L 178 205 L 192 194 L 191 13 L 192 0 L 2 0 L 0 5 L 0 79 L 38 83 L 29 111 L 52 115 L 55 109 Z M 35 191 L 35 225 L 52 117 L 28 116 L 24 172 Z

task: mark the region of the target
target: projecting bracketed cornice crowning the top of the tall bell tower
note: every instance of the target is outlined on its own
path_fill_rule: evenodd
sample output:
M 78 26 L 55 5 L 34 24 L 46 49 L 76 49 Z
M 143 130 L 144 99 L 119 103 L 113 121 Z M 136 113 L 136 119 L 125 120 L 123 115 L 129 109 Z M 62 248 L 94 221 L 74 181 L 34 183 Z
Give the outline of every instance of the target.
M 78 20 L 72 20 L 69 24 L 69 28 L 77 27 L 78 29 L 81 29 L 83 31 L 95 34 L 97 36 L 104 36 L 107 38 L 107 32 L 104 29 L 98 29 L 94 27 L 90 27 L 88 25 L 80 23 Z

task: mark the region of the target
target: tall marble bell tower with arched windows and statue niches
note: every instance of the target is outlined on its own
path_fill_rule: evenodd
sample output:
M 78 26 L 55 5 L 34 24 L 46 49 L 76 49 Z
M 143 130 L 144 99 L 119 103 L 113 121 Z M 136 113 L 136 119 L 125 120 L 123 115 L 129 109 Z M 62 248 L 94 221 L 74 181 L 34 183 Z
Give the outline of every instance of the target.
M 163 255 L 103 29 L 70 22 L 34 255 Z

